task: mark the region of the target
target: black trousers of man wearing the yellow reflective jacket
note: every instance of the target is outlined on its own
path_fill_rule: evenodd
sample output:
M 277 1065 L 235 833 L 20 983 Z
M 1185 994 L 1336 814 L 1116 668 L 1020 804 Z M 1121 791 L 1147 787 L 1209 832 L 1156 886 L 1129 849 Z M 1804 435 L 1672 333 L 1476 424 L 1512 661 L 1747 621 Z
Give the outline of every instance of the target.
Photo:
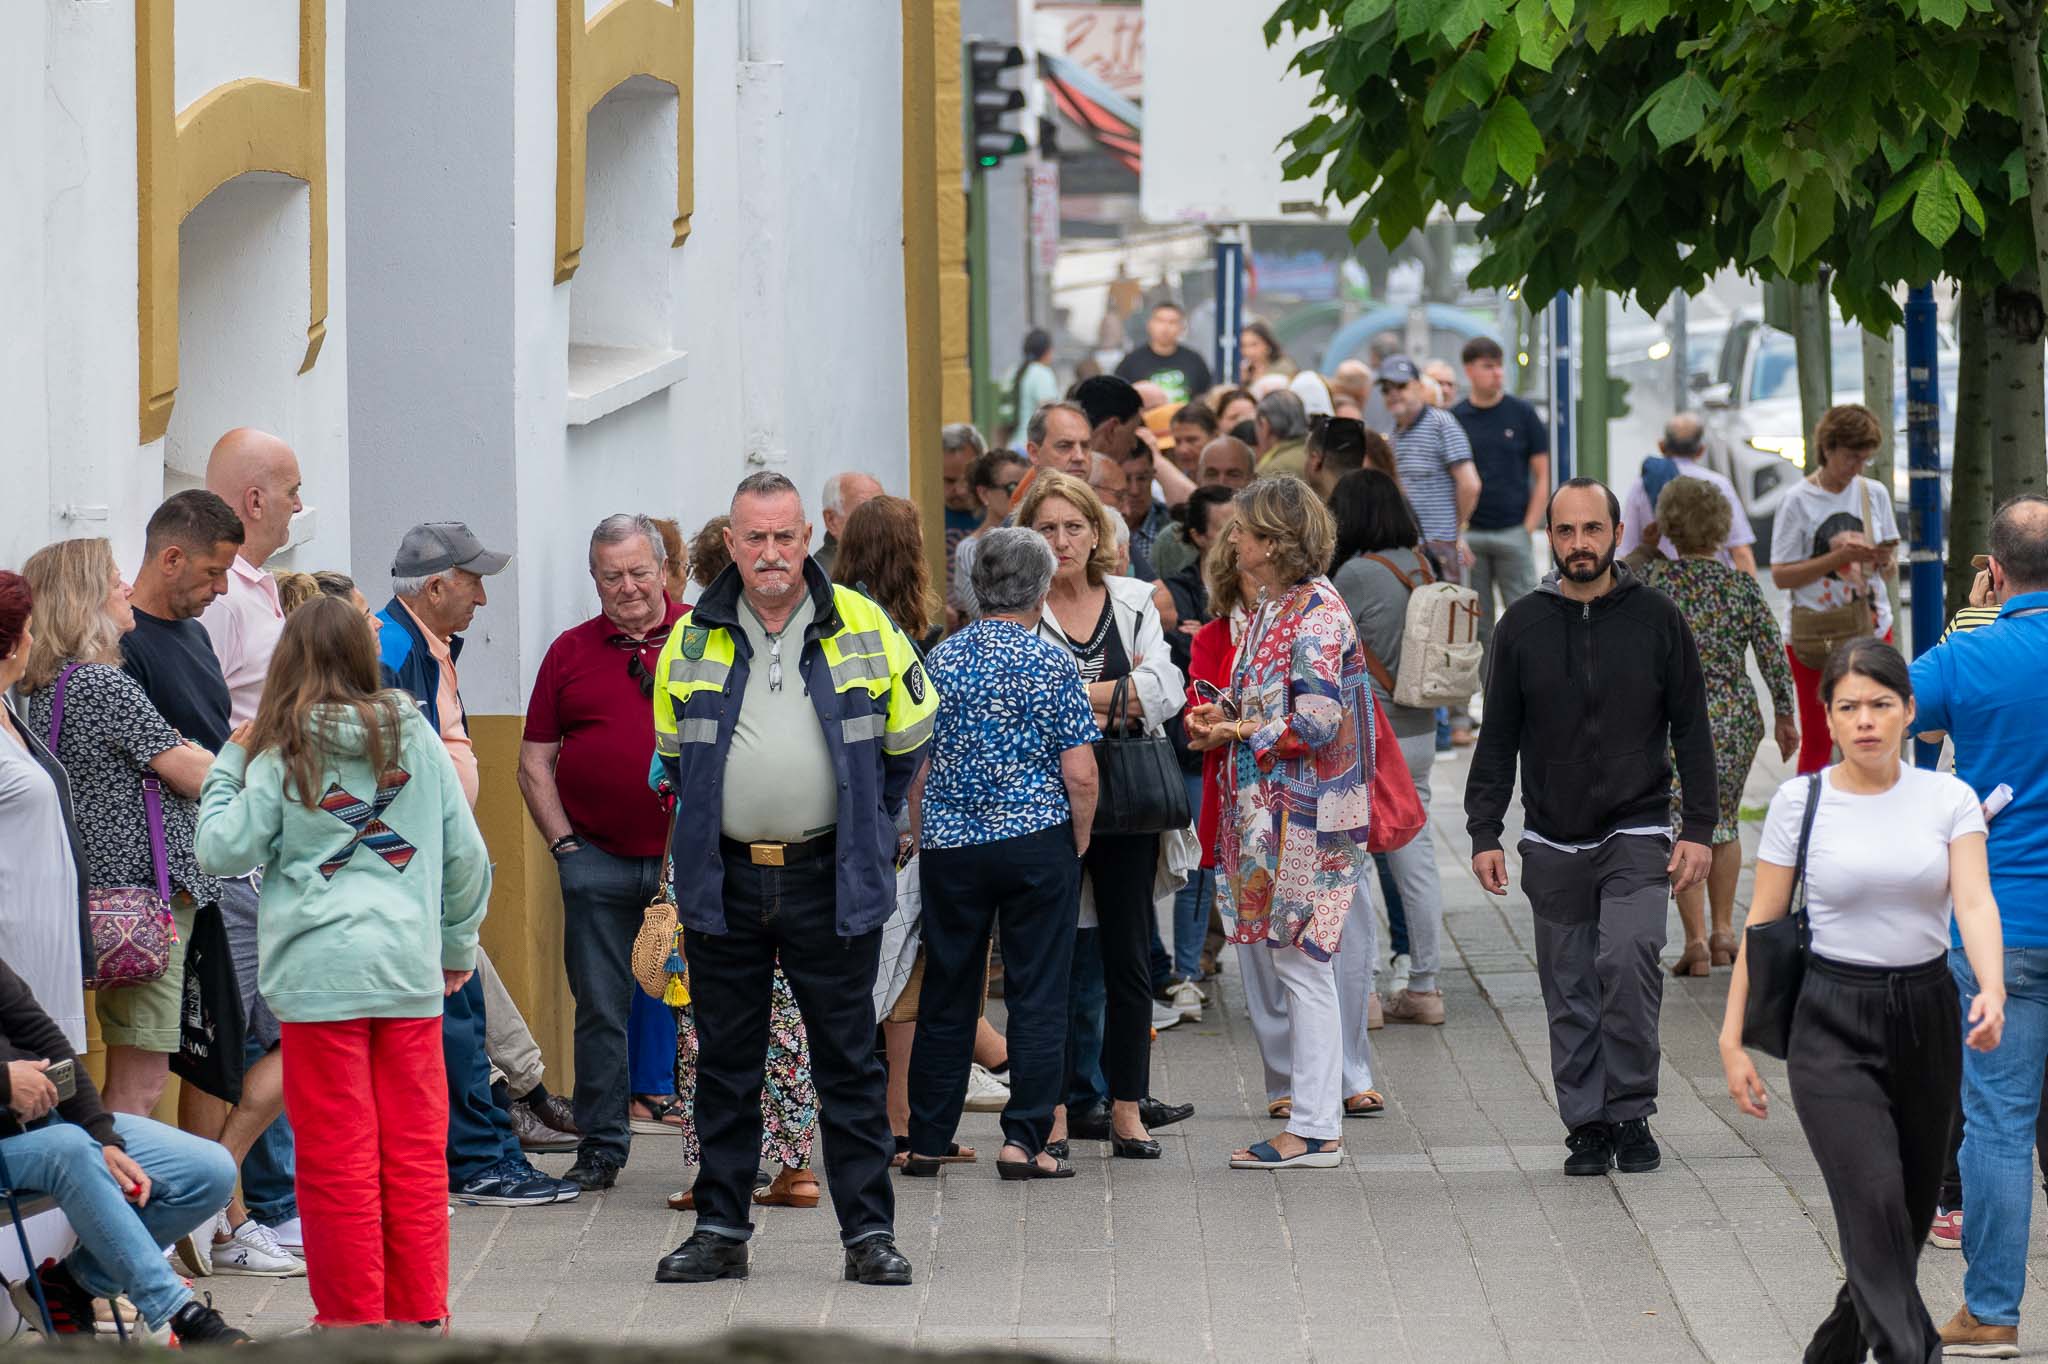
M 725 858 L 725 932 L 686 928 L 696 1018 L 696 1227 L 725 1237 L 754 1233 L 754 1171 L 762 1151 L 762 1069 L 774 969 L 788 977 L 811 1042 L 817 1120 L 825 1133 L 825 1184 L 852 1245 L 895 1227 L 889 1161 L 889 1073 L 874 1055 L 877 928 L 842 938 L 834 858 L 754 866 Z

